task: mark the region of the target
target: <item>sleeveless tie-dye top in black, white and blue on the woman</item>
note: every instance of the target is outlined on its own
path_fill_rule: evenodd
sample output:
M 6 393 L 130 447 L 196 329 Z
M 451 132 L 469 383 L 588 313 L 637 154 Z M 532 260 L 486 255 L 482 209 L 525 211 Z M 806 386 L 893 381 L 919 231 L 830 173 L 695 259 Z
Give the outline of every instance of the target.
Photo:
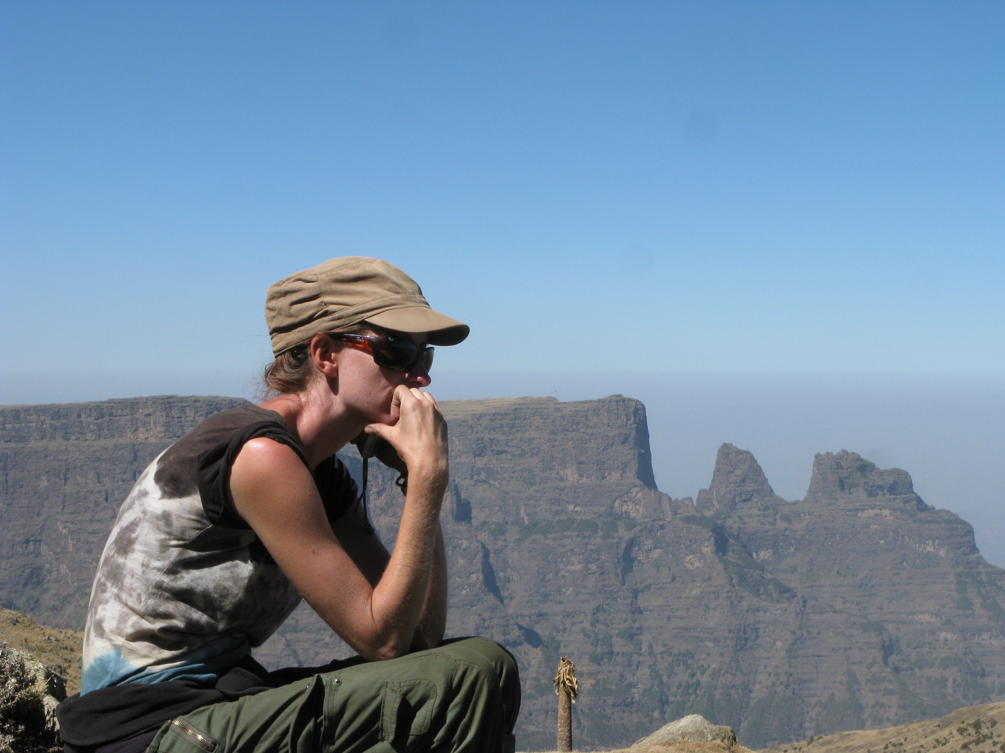
M 137 480 L 94 575 L 81 695 L 122 683 L 211 685 L 299 602 L 227 492 L 234 458 L 256 437 L 307 463 L 279 414 L 248 404 L 204 421 Z M 334 456 L 314 477 L 334 521 L 356 500 L 356 484 Z

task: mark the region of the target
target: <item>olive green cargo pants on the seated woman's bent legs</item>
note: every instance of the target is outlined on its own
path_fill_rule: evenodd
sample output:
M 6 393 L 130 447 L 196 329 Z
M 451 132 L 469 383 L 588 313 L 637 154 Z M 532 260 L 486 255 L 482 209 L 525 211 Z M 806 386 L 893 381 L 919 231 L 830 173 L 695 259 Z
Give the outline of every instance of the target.
M 347 665 L 173 719 L 148 753 L 513 753 L 520 677 L 494 641 Z

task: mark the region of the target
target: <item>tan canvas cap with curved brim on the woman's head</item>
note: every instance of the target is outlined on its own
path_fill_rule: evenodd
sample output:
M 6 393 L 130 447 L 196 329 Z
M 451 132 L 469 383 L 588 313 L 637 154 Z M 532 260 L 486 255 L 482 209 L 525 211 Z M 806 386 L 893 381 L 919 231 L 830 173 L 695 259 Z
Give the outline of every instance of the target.
M 399 332 L 429 332 L 432 345 L 456 345 L 469 331 L 467 324 L 430 308 L 407 274 L 367 256 L 329 259 L 269 285 L 265 296 L 275 355 L 318 332 L 363 321 Z

